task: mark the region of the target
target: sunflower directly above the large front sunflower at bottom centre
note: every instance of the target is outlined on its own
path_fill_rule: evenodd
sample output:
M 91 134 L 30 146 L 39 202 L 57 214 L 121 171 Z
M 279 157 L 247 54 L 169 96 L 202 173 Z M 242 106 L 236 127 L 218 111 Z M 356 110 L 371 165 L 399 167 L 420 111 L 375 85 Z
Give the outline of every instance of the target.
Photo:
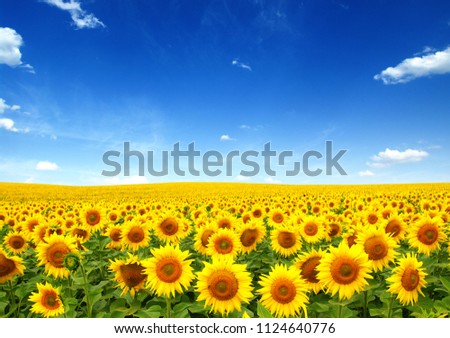
M 241 242 L 232 230 L 218 229 L 209 238 L 206 253 L 209 256 L 236 257 L 240 250 Z

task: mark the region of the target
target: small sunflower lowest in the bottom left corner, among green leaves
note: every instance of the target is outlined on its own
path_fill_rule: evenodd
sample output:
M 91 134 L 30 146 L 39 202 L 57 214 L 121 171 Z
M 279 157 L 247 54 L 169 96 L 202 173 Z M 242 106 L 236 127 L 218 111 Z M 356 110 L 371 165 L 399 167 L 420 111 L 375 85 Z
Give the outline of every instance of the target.
M 45 283 L 36 284 L 38 292 L 33 292 L 29 300 L 33 302 L 31 312 L 38 313 L 44 317 L 55 317 L 64 313 L 64 305 L 59 297 L 59 288 Z

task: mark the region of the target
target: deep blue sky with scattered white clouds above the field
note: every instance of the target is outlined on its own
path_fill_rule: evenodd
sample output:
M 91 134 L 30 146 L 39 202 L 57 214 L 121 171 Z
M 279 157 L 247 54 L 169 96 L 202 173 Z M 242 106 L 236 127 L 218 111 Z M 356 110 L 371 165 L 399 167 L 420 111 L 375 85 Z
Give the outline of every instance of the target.
M 1 0 L 0 182 L 449 182 L 449 91 L 449 1 Z M 325 174 L 327 140 L 347 175 Z M 293 156 L 102 175 L 124 142 L 155 169 L 177 142 L 199 170 L 210 150 Z M 323 172 L 286 176 L 310 150 Z

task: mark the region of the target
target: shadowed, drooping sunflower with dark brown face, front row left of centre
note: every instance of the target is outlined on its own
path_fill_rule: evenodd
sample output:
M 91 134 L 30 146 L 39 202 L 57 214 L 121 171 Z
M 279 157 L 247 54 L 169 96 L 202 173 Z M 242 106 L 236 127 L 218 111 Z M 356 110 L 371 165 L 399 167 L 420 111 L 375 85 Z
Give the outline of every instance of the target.
M 145 273 L 144 262 L 140 262 L 137 256 L 128 253 L 128 259 L 110 260 L 109 269 L 115 272 L 113 281 L 118 282 L 122 289 L 122 295 L 130 292 L 131 296 L 144 288 L 147 281 L 147 274 Z

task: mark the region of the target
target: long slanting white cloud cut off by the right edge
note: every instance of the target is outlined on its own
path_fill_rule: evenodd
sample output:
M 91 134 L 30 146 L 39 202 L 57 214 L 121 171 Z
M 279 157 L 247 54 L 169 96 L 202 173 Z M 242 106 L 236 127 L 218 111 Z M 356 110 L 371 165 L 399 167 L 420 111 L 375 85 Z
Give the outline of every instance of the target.
M 443 51 L 432 51 L 430 47 L 424 49 L 428 54 L 403 60 L 395 67 L 388 67 L 374 76 L 375 80 L 382 80 L 384 84 L 406 83 L 419 77 L 450 73 L 450 47 Z

